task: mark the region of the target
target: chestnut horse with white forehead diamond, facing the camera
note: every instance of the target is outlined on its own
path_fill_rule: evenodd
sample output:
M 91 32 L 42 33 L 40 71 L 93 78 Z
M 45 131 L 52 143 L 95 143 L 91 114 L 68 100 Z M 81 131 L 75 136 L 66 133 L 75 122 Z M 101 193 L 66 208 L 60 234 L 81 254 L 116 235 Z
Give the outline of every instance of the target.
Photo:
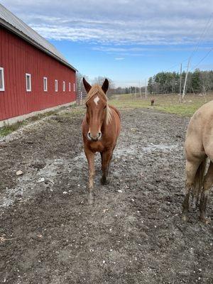
M 89 165 L 89 203 L 92 203 L 94 178 L 94 154 L 100 152 L 102 156 L 102 185 L 107 184 L 107 175 L 112 153 L 121 131 L 119 111 L 107 103 L 109 81 L 106 79 L 100 87 L 98 84 L 90 86 L 83 78 L 87 91 L 87 113 L 82 122 L 84 153 Z

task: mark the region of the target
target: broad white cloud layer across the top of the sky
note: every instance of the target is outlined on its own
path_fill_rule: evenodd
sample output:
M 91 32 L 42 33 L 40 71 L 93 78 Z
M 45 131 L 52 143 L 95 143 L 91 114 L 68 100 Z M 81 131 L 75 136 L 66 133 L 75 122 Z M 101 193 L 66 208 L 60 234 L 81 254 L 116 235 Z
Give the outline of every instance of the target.
M 45 38 L 119 45 L 196 43 L 213 11 L 212 0 L 1 2 Z M 212 21 L 205 42 L 212 43 Z

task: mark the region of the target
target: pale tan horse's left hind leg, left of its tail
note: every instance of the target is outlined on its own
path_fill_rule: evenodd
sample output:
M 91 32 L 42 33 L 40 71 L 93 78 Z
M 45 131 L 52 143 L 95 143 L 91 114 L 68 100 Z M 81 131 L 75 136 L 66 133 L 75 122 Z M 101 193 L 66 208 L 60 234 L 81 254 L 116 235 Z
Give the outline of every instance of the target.
M 182 203 L 182 219 L 184 221 L 187 221 L 187 213 L 189 210 L 189 200 L 190 200 L 190 191 L 192 189 L 192 185 L 195 180 L 195 175 L 197 173 L 197 169 L 199 168 L 199 165 L 201 163 L 201 160 L 195 160 L 193 162 L 189 162 L 187 160 L 186 162 L 186 182 L 185 182 L 185 199 Z

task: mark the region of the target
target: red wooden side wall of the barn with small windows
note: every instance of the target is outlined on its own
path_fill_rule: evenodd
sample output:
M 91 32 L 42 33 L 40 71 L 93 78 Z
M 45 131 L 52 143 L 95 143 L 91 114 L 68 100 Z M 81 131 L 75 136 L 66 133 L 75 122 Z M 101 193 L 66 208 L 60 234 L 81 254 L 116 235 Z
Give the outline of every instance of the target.
M 0 91 L 0 121 L 75 101 L 75 71 L 1 27 L 0 67 L 4 67 L 5 85 L 5 91 Z M 26 73 L 31 74 L 31 92 L 26 92 Z M 43 77 L 48 77 L 48 92 L 43 90 Z

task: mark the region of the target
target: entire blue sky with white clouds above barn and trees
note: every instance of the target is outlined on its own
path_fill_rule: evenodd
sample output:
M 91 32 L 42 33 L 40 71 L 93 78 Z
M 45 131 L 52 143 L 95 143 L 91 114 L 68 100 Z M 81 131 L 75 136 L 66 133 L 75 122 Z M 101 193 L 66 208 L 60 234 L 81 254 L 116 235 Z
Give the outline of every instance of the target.
M 160 71 L 213 70 L 213 0 L 0 0 L 92 82 L 144 85 Z

